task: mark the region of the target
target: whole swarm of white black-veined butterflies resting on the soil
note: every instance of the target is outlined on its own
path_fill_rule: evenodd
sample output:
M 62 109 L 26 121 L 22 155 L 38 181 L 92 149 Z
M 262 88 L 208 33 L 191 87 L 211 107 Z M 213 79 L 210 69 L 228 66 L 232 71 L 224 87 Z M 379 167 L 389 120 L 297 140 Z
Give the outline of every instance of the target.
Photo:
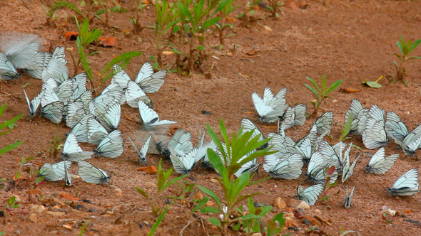
M 118 130 L 121 117 L 121 105 L 125 102 L 137 108 L 146 129 L 153 129 L 158 125 L 174 124 L 169 120 L 160 120 L 158 114 L 151 108 L 152 101 L 146 93 L 157 92 L 163 85 L 166 71 L 153 72 L 150 63 L 141 67 L 133 81 L 118 65 L 114 65 L 111 84 L 100 95 L 92 98 L 91 90 L 86 89 L 85 73 L 69 77 L 66 67 L 64 48 L 57 47 L 53 53 L 38 52 L 39 41 L 36 38 L 26 38 L 24 41 L 9 45 L 9 50 L 0 53 L 0 76 L 2 79 L 15 79 L 19 77 L 16 68 L 21 69 L 34 78 L 43 80 L 41 92 L 33 100 L 29 100 L 24 91 L 29 107 L 29 117 L 34 117 L 38 109 L 42 117 L 51 122 L 66 122 L 71 132 L 66 138 L 59 163 L 46 163 L 41 166 L 39 175 L 45 176 L 47 181 L 65 180 L 71 186 L 69 168 L 76 162 L 78 175 L 88 183 L 107 183 L 108 174 L 85 161 L 91 156 L 104 156 L 116 158 L 123 153 L 123 137 Z M 305 176 L 313 186 L 303 189 L 298 186 L 297 195 L 309 205 L 314 205 L 318 195 L 325 188 L 325 182 L 334 183 L 338 180 L 345 182 L 352 176 L 353 170 L 360 156 L 350 163 L 351 144 L 339 142 L 331 146 L 324 137 L 330 134 L 333 122 L 333 112 L 325 112 L 313 123 L 310 132 L 302 139 L 293 140 L 285 135 L 285 130 L 291 127 L 302 126 L 305 123 L 307 107 L 298 104 L 289 107 L 285 100 L 287 89 L 283 88 L 276 95 L 265 87 L 263 98 L 253 92 L 252 100 L 260 122 L 278 122 L 276 132 L 269 133 L 271 150 L 274 154 L 264 156 L 263 169 L 274 178 L 296 179 L 303 166 L 307 164 Z M 41 108 L 39 108 L 41 106 Z M 374 174 L 384 174 L 397 161 L 399 155 L 385 156 L 384 146 L 389 139 L 393 139 L 408 156 L 415 155 L 421 144 L 421 125 L 409 132 L 400 117 L 393 112 L 387 112 L 385 119 L 384 109 L 377 105 L 363 108 L 361 103 L 354 99 L 350 109 L 345 114 L 345 121 L 351 120 L 350 134 L 362 135 L 363 144 L 367 149 L 377 149 L 366 166 L 366 171 Z M 243 119 L 241 126 L 244 131 L 253 132 L 254 136 L 265 136 L 258 127 L 250 121 Z M 151 143 L 151 134 L 141 149 L 128 136 L 134 149 L 138 153 L 141 163 L 147 161 L 148 148 Z M 93 151 L 83 151 L 78 145 L 85 142 L 97 145 Z M 169 141 L 157 141 L 156 146 L 163 156 L 171 159 L 173 168 L 181 174 L 191 173 L 196 163 L 202 160 L 204 168 L 213 168 L 207 156 L 207 149 L 221 153 L 213 141 L 205 142 L 205 133 L 201 134 L 198 144 L 193 147 L 191 133 L 178 129 Z M 223 144 L 226 148 L 226 144 Z M 347 148 L 348 146 L 348 148 Z M 260 148 L 265 148 L 262 146 Z M 226 149 L 224 150 L 226 151 Z M 250 152 L 250 154 L 253 153 Z M 248 155 L 250 155 L 248 154 Z M 245 159 L 248 155 L 244 156 Z M 222 156 L 222 154 L 220 154 Z M 222 158 L 221 158 L 222 159 Z M 245 171 L 257 171 L 260 163 L 257 159 L 245 163 L 237 173 L 240 176 Z M 328 171 L 332 169 L 333 171 Z M 404 173 L 391 188 L 387 188 L 392 195 L 413 195 L 418 192 L 418 170 L 411 169 Z M 345 196 L 345 208 L 350 208 L 355 186 Z

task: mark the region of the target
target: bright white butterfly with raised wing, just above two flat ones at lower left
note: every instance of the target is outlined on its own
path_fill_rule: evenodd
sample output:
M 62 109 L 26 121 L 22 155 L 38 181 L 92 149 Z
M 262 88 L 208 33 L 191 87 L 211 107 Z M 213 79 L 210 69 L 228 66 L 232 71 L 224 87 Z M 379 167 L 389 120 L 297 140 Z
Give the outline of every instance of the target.
M 75 134 L 70 133 L 67 136 L 66 141 L 64 141 L 63 152 L 61 153 L 61 157 L 65 161 L 81 161 L 90 159 L 92 155 L 92 151 L 83 151 L 81 149 Z

